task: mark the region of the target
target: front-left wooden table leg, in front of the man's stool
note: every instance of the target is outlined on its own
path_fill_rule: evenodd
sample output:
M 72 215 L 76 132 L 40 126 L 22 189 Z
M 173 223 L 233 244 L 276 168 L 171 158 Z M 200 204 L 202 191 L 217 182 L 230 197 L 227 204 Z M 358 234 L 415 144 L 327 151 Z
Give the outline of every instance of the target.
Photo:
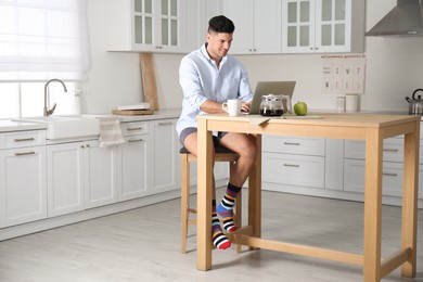
M 198 119 L 197 155 L 197 247 L 198 270 L 211 269 L 211 189 L 213 138 L 207 131 L 207 120 Z

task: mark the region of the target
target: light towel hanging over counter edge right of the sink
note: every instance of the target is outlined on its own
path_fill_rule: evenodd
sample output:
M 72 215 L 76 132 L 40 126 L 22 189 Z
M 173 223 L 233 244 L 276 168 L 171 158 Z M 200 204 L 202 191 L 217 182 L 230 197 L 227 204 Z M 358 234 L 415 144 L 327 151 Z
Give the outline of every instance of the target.
M 113 117 L 100 118 L 100 146 L 108 146 L 125 143 L 121 136 L 120 121 Z

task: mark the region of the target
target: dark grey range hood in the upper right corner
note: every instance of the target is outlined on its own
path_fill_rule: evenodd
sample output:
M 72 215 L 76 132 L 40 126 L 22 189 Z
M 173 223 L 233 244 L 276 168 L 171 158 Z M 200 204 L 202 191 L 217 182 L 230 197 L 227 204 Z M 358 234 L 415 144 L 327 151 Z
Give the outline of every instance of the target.
M 423 36 L 423 0 L 397 0 L 366 36 Z

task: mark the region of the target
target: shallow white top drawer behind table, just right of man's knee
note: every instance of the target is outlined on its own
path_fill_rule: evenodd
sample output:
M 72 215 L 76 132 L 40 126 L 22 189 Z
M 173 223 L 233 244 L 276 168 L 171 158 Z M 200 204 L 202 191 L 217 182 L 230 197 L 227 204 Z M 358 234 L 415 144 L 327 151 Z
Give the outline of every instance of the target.
M 324 156 L 323 138 L 264 136 L 262 152 Z

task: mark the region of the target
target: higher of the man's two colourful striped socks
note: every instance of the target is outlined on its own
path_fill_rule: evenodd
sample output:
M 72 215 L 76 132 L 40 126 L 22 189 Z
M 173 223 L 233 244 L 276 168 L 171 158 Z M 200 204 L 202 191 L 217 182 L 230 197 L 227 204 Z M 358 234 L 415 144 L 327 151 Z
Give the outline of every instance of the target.
M 226 232 L 233 232 L 236 230 L 236 227 L 233 223 L 233 205 L 235 204 L 235 198 L 240 190 L 241 188 L 228 183 L 227 192 L 217 206 L 217 214 L 222 218 L 223 230 Z

